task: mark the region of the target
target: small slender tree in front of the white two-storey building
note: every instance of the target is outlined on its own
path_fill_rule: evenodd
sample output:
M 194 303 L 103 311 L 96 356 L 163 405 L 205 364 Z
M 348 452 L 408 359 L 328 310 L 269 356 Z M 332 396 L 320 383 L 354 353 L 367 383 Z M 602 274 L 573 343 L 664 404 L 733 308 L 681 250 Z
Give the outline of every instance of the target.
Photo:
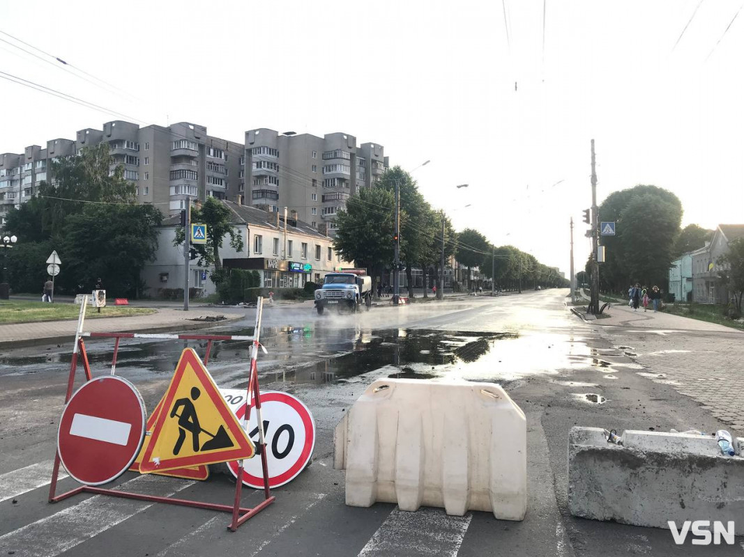
M 234 215 L 230 208 L 217 198 L 207 198 L 201 204 L 195 204 L 191 208 L 191 222 L 194 224 L 207 225 L 207 243 L 193 244 L 196 253 L 199 254 L 199 265 L 214 265 L 213 275 L 219 275 L 222 269 L 222 259 L 219 258 L 219 248 L 225 235 L 230 235 L 230 246 L 237 252 L 243 251 L 243 235 L 240 229 L 234 228 L 232 222 Z M 174 246 L 184 243 L 185 232 L 183 228 L 176 228 Z

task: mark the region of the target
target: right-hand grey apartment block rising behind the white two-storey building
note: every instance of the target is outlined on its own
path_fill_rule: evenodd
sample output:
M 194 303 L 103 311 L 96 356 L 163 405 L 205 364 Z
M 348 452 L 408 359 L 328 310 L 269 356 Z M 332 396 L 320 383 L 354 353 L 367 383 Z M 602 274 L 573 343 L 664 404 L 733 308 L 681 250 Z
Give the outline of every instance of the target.
M 359 188 L 371 187 L 388 168 L 378 143 L 333 133 L 283 134 L 268 128 L 246 131 L 240 160 L 245 203 L 267 211 L 288 207 L 301 221 L 333 236 L 336 213 Z

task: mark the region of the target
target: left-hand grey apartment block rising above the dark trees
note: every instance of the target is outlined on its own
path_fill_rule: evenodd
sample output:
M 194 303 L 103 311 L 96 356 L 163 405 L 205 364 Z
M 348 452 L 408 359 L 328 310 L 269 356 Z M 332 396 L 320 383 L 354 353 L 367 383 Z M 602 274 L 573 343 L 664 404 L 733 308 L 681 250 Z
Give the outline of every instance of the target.
M 77 131 L 75 140 L 29 146 L 22 154 L 0 154 L 0 218 L 36 195 L 42 180 L 51 180 L 51 161 L 109 143 L 110 172 L 124 166 L 140 203 L 154 203 L 165 214 L 182 209 L 185 195 L 205 200 L 238 195 L 243 144 L 213 137 L 205 126 L 182 122 L 146 126 L 115 120 L 103 129 Z

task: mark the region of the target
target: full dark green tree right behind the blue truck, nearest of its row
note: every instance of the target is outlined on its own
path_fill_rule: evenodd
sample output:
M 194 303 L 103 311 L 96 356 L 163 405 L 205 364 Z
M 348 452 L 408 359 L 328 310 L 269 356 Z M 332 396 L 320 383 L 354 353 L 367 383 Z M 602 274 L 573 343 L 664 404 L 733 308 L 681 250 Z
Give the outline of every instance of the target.
M 333 247 L 346 261 L 366 267 L 372 276 L 372 290 L 385 264 L 394 255 L 395 199 L 391 192 L 379 188 L 362 188 L 336 215 L 336 238 Z M 405 218 L 405 213 L 401 213 Z

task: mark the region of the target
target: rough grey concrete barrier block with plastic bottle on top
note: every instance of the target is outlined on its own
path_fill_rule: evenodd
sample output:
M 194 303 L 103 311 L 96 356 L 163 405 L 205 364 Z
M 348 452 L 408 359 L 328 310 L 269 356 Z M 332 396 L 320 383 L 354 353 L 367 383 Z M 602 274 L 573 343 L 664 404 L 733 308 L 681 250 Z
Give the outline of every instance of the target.
M 739 454 L 744 439 L 734 440 Z M 568 434 L 568 510 L 574 516 L 667 529 L 667 521 L 735 521 L 744 534 L 744 458 L 721 454 L 712 436 L 601 428 Z

